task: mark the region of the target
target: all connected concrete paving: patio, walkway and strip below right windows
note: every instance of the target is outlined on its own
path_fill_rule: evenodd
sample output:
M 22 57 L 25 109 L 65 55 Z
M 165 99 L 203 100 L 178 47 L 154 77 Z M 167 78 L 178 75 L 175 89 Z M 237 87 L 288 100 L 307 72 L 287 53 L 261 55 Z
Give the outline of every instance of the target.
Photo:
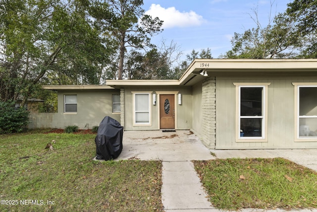
M 212 156 L 211 152 L 215 155 Z M 209 150 L 190 131 L 125 131 L 123 150 L 116 160 L 162 161 L 162 204 L 165 212 L 222 212 L 211 206 L 192 160 L 283 157 L 317 171 L 317 149 Z M 241 212 L 264 212 L 243 209 Z M 283 212 L 285 210 L 269 210 Z M 293 210 L 317 212 L 314 210 Z

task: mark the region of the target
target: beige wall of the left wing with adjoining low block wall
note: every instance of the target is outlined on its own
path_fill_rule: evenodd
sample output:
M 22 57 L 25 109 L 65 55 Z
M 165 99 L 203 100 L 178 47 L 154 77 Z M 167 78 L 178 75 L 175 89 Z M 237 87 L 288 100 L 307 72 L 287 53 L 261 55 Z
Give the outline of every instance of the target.
M 64 95 L 77 95 L 77 113 L 64 113 Z M 112 94 L 120 90 L 60 90 L 58 91 L 58 112 L 32 114 L 30 128 L 48 127 L 64 129 L 77 125 L 79 129 L 99 126 L 105 116 L 120 121 L 119 113 L 112 113 Z

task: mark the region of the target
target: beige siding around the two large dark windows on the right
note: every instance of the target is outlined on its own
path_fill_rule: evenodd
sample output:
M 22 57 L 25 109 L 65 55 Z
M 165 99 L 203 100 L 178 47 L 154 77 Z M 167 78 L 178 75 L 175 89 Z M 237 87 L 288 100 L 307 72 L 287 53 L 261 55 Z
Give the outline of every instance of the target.
M 216 148 L 316 148 L 317 142 L 296 142 L 294 138 L 294 86 L 292 82 L 317 82 L 301 76 L 216 77 Z M 302 79 L 301 79 L 302 78 Z M 236 142 L 236 88 L 233 83 L 270 83 L 267 87 L 267 141 Z

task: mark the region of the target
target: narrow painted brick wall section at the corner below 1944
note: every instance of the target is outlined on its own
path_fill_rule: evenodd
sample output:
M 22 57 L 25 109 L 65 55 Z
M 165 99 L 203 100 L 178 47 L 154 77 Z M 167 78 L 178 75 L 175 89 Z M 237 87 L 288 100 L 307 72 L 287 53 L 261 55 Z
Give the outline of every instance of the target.
M 215 77 L 208 77 L 203 81 L 202 106 L 202 140 L 208 148 L 214 149 L 216 141 Z

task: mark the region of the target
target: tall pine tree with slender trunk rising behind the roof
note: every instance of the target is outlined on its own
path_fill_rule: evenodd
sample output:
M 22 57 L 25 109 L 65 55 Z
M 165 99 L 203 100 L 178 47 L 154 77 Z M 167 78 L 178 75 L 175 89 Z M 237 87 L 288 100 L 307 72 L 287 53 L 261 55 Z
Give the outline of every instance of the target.
M 89 9 L 104 34 L 116 42 L 118 79 L 123 76 L 126 49 L 154 48 L 150 36 L 162 30 L 163 22 L 158 17 L 145 14 L 142 5 L 143 0 L 95 0 Z

